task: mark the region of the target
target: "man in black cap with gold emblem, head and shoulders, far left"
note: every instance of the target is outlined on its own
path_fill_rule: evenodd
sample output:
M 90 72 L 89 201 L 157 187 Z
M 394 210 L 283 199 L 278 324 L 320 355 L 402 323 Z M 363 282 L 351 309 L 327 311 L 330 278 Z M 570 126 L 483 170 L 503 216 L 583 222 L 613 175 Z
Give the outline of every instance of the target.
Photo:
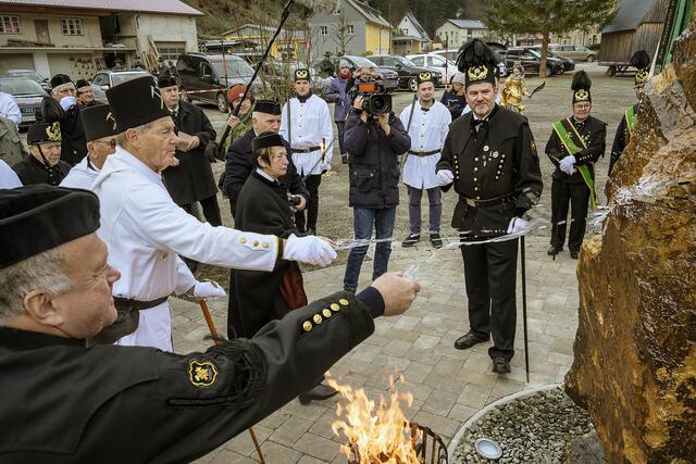
M 70 172 L 70 164 L 61 160 L 61 126 L 59 123 L 36 123 L 26 134 L 29 156 L 12 168 L 23 185 L 59 185 Z

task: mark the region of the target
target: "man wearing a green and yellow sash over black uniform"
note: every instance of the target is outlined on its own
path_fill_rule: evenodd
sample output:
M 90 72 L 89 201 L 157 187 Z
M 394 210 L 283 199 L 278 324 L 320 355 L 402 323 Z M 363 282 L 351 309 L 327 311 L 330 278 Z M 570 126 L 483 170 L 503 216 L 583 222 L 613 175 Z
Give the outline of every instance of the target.
M 577 259 L 585 236 L 587 202 L 593 210 L 597 204 L 594 163 L 605 154 L 607 125 L 589 115 L 592 112 L 592 80 L 584 71 L 575 73 L 573 115 L 554 123 L 546 154 L 556 166 L 551 180 L 551 247 L 549 255 L 563 250 L 568 203 L 571 204 L 571 224 L 568 249 Z

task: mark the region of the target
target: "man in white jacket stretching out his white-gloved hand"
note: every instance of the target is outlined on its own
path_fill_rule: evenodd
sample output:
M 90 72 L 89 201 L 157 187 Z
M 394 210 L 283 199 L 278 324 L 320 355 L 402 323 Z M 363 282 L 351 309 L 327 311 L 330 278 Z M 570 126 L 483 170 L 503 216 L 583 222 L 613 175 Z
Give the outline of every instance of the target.
M 99 236 L 122 278 L 113 286 L 119 319 L 97 342 L 137 344 L 173 351 L 172 292 L 224 296 L 198 283 L 178 255 L 240 269 L 271 271 L 278 260 L 326 265 L 336 253 L 316 237 L 287 240 L 201 223 L 177 206 L 162 184 L 161 171 L 174 159 L 178 138 L 171 113 L 152 78 L 110 88 L 107 99 L 116 120 L 116 152 L 94 184 L 99 196 Z M 137 104 L 133 104 L 137 102 Z M 123 337 L 123 336 L 126 337 Z

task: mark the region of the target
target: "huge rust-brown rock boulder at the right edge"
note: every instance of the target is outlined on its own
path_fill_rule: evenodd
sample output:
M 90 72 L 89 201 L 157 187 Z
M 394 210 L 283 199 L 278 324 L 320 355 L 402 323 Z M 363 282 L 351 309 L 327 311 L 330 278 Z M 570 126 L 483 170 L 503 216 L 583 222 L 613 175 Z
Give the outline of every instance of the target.
M 691 32 L 689 32 L 691 30 Z M 696 456 L 696 21 L 654 77 L 580 256 L 566 378 L 611 463 Z

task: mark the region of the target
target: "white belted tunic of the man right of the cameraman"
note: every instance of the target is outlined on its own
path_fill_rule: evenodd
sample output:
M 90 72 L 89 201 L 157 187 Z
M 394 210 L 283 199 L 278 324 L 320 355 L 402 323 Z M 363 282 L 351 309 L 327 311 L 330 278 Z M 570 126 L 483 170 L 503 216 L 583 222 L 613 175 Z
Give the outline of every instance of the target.
M 414 104 L 413 118 L 408 128 L 411 137 L 411 151 L 418 153 L 442 150 L 449 131 L 449 124 L 452 122 L 449 110 L 439 101 L 434 102 L 428 111 L 423 111 L 419 101 Z M 403 127 L 409 124 L 411 106 L 410 104 L 406 106 L 399 116 Z M 419 189 L 437 187 L 435 165 L 439 161 L 439 156 L 440 153 L 426 156 L 409 153 L 403 165 L 403 184 Z

